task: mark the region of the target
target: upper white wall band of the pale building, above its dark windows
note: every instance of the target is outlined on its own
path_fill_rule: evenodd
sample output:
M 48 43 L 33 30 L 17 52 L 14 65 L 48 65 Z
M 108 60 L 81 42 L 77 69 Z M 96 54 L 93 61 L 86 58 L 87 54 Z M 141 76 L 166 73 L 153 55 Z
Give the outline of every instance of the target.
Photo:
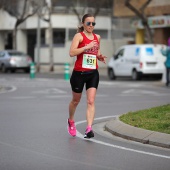
M 80 24 L 77 16 L 66 14 L 53 14 L 51 17 L 53 28 L 72 28 L 76 29 Z M 7 12 L 0 10 L 0 30 L 13 30 L 16 19 L 11 17 Z M 37 15 L 28 18 L 22 23 L 20 29 L 36 29 L 38 23 Z M 48 22 L 41 20 L 41 27 L 47 28 Z M 111 29 L 111 19 L 108 16 L 96 16 L 96 29 Z

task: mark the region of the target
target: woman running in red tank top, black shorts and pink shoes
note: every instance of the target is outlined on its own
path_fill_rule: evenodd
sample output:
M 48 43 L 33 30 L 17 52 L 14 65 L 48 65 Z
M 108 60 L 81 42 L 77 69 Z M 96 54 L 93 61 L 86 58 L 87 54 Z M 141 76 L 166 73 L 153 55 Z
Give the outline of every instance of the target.
M 87 96 L 87 127 L 84 138 L 94 137 L 92 124 L 95 116 L 96 91 L 99 84 L 97 60 L 106 63 L 106 57 L 100 52 L 100 35 L 93 33 L 95 24 L 94 16 L 85 14 L 70 47 L 70 57 L 76 57 L 70 78 L 72 100 L 69 104 L 68 132 L 71 136 L 76 136 L 74 114 L 85 85 Z

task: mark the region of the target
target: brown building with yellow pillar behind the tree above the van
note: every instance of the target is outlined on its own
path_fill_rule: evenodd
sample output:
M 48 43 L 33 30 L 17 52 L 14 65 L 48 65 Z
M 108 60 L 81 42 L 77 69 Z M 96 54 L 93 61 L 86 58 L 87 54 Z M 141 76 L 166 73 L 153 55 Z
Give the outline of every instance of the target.
M 131 0 L 130 3 L 137 9 L 147 0 Z M 145 10 L 148 17 L 148 24 L 152 29 L 154 43 L 167 44 L 170 37 L 170 1 L 169 0 L 152 0 Z M 124 0 L 114 0 L 113 16 L 118 18 L 130 18 L 131 27 L 136 29 L 136 43 L 147 42 L 147 40 L 139 39 L 144 37 L 144 28 L 136 15 L 125 6 Z

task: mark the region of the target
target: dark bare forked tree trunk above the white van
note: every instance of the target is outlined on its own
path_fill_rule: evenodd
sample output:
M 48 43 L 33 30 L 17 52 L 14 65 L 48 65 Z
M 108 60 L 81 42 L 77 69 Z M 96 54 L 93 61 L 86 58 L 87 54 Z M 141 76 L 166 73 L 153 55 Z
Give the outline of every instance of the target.
M 152 0 L 147 0 L 139 9 L 136 9 L 131 3 L 131 0 L 124 0 L 125 1 L 125 5 L 131 10 L 133 11 L 142 21 L 142 24 L 146 30 L 147 33 L 147 37 L 148 37 L 148 42 L 152 43 L 153 39 L 152 39 L 152 33 L 151 33 L 151 29 L 148 25 L 148 19 L 145 15 L 145 9 L 146 7 L 149 5 L 149 3 Z

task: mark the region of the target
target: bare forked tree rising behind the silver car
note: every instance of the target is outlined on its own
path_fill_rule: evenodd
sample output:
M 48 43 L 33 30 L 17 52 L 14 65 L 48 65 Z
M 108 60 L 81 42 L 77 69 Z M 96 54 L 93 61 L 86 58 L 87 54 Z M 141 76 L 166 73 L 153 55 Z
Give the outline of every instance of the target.
M 17 49 L 16 35 L 18 26 L 33 16 L 39 6 L 38 0 L 1 0 L 0 8 L 7 11 L 11 16 L 16 18 L 13 30 L 13 49 Z

